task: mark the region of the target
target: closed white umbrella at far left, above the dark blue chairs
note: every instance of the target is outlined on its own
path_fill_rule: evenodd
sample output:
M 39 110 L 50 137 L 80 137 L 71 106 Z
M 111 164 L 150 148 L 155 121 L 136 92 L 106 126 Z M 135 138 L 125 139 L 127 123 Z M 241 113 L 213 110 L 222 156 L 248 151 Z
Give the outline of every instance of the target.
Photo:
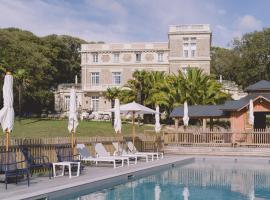
M 9 148 L 9 134 L 13 130 L 14 125 L 14 109 L 13 109 L 13 77 L 11 73 L 5 75 L 3 85 L 4 106 L 0 110 L 0 123 L 4 132 L 6 132 L 6 151 Z

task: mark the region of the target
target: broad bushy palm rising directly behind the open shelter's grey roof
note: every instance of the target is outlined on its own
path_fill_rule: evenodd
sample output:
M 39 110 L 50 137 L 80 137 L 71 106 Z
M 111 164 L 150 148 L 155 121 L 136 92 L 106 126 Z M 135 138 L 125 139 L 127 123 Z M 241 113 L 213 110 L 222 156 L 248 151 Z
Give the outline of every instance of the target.
M 177 74 L 168 75 L 164 85 L 167 95 L 164 105 L 168 113 L 185 101 L 189 105 L 214 105 L 228 99 L 221 91 L 222 85 L 198 68 L 189 68 L 186 74 L 179 70 Z

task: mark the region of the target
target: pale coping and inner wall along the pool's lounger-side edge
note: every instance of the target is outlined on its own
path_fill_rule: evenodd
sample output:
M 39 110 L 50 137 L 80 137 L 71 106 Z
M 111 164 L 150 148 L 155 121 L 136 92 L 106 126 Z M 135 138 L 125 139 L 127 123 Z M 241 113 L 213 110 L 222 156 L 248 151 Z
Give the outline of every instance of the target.
M 167 161 L 168 160 L 168 161 Z M 56 186 L 53 188 L 45 188 L 36 192 L 28 192 L 25 194 L 17 194 L 7 199 L 54 199 L 63 196 L 63 191 L 65 195 L 78 192 L 79 190 L 86 190 L 87 188 L 97 188 L 104 189 L 110 186 L 114 186 L 120 181 L 128 181 L 130 178 L 137 179 L 145 175 L 151 175 L 160 170 L 165 170 L 174 166 L 186 165 L 195 162 L 195 157 L 174 157 L 162 160 L 154 161 L 149 163 L 149 165 L 138 165 L 138 167 L 127 168 L 123 171 L 116 172 L 111 175 L 104 175 L 88 180 L 81 180 L 79 182 L 67 183 L 64 185 Z M 31 186 L 30 186 L 31 187 Z

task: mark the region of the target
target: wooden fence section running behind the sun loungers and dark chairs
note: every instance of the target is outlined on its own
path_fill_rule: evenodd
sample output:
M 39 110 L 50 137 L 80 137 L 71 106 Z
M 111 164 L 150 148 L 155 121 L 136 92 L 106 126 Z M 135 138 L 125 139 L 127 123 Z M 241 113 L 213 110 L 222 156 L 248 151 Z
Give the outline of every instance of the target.
M 83 143 L 90 150 L 92 155 L 95 155 L 94 145 L 101 142 L 105 148 L 113 154 L 114 149 L 112 142 L 132 141 L 131 137 L 78 137 L 77 143 Z M 154 151 L 161 149 L 161 139 L 157 136 L 143 136 L 136 137 L 135 146 L 139 151 Z M 55 162 L 56 147 L 70 147 L 70 137 L 54 137 L 54 138 L 12 138 L 10 141 L 10 151 L 17 153 L 18 160 L 23 160 L 21 153 L 22 147 L 28 147 L 31 154 L 35 157 L 47 156 L 50 162 Z M 5 139 L 0 140 L 0 150 L 5 150 Z

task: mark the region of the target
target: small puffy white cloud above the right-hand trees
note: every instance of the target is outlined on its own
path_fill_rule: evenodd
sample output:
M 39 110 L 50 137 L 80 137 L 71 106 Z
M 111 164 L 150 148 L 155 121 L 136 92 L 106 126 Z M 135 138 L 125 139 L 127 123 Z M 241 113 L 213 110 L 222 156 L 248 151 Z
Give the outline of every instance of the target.
M 253 31 L 262 28 L 262 22 L 252 15 L 244 15 L 239 17 L 236 24 L 238 29 L 243 31 Z

